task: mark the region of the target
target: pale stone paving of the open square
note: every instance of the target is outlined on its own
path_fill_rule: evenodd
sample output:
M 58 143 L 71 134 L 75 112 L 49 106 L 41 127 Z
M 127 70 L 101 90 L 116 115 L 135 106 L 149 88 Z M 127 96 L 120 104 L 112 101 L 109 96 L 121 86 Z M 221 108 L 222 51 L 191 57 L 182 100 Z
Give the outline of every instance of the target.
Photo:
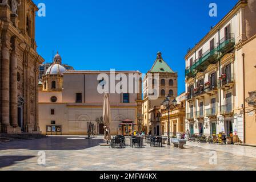
M 189 142 L 184 149 L 99 146 L 102 137 L 48 137 L 0 144 L 1 170 L 254 170 L 256 148 Z M 46 164 L 38 164 L 38 152 L 45 151 Z M 211 153 L 212 152 L 212 153 Z M 210 164 L 217 154 L 217 164 Z

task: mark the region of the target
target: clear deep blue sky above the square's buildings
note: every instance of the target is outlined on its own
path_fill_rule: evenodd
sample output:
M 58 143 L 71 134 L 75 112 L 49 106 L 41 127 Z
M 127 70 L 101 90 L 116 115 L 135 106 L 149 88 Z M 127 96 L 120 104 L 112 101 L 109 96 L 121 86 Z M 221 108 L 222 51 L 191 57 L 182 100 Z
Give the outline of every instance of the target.
M 193 48 L 237 0 L 37 0 L 46 17 L 36 20 L 39 54 L 78 70 L 149 71 L 157 52 L 178 72 L 178 92 L 185 91 L 185 60 Z M 217 3 L 218 16 L 209 16 Z

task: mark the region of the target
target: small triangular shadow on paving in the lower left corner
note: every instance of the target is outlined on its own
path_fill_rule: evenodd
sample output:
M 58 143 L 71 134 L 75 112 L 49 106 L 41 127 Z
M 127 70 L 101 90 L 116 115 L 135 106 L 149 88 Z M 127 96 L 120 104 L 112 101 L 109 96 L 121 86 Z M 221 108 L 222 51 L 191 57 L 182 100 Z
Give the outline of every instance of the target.
M 11 166 L 17 162 L 34 158 L 35 156 L 0 156 L 0 168 Z

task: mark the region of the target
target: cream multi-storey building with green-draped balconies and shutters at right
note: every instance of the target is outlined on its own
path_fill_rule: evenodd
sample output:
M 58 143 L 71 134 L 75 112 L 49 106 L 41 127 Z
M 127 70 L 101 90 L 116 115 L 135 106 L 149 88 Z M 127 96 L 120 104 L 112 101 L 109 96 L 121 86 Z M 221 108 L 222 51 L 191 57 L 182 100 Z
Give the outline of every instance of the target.
M 246 141 L 243 52 L 254 53 L 244 44 L 256 32 L 255 5 L 254 0 L 238 1 L 185 57 L 186 129 L 191 134 L 223 132 Z

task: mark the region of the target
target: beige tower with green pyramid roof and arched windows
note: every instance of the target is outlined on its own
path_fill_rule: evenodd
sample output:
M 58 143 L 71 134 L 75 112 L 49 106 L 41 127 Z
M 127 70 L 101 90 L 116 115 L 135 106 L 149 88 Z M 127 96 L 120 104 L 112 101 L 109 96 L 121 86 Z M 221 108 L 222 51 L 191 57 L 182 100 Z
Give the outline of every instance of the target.
M 153 67 L 143 78 L 142 125 L 145 133 L 161 134 L 159 108 L 167 95 L 172 99 L 178 94 L 178 73 L 157 53 Z

